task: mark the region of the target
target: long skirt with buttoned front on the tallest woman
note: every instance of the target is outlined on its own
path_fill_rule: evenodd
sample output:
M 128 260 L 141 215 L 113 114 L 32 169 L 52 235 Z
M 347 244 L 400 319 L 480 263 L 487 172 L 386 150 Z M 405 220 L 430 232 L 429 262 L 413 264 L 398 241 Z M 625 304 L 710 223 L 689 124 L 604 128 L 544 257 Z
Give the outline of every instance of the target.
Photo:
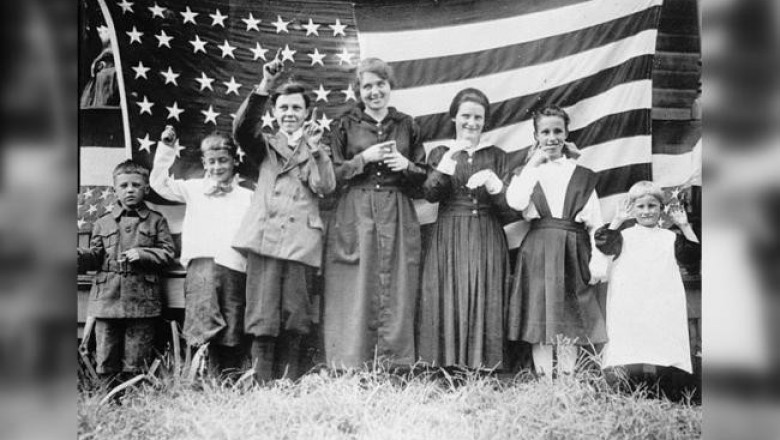
M 325 262 L 329 365 L 414 363 L 420 247 L 417 213 L 403 192 L 352 188 L 339 200 Z

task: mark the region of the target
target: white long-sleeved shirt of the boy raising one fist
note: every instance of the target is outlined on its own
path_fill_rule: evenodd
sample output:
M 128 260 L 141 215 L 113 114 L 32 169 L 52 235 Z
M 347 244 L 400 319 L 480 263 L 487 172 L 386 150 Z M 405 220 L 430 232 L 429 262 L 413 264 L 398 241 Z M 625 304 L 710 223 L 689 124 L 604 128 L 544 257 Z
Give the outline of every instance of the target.
M 174 179 L 170 167 L 175 149 L 159 142 L 149 176 L 152 188 L 162 197 L 187 204 L 182 225 L 181 264 L 186 268 L 195 258 L 214 258 L 227 268 L 246 272 L 246 258 L 231 247 L 252 197 L 252 191 L 233 186 L 233 191 L 206 195 L 206 179 Z M 234 182 L 235 184 L 236 182 Z

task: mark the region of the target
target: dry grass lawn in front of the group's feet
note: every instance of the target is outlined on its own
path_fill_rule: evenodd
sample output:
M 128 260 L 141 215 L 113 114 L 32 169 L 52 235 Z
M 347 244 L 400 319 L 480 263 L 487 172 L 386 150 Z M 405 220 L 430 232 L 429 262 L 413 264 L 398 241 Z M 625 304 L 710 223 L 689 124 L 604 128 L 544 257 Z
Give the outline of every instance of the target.
M 378 369 L 260 387 L 165 370 L 112 401 L 83 387 L 79 438 L 687 439 L 702 430 L 700 406 L 615 391 L 593 372 L 550 381 Z

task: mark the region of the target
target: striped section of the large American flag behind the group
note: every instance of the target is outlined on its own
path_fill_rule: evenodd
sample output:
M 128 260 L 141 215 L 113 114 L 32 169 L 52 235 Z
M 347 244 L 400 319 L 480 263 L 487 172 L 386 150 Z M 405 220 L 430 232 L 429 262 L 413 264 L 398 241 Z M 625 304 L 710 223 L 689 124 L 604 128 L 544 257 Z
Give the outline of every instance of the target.
M 508 152 L 532 145 L 534 110 L 563 107 L 571 116 L 569 140 L 582 150 L 579 163 L 599 175 L 608 219 L 634 182 L 652 178 L 651 73 L 661 4 L 363 4 L 356 18 L 361 54 L 391 63 L 398 83 L 392 104 L 417 119 L 428 149 L 454 136 L 447 111 L 466 87 L 491 102 L 483 140 Z

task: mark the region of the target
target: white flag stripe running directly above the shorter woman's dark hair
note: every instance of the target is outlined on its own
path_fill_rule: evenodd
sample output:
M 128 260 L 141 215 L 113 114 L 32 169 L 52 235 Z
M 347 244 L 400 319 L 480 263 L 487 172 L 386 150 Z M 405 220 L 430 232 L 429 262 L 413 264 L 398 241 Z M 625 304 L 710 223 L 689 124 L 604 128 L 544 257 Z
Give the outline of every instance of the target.
M 413 116 L 423 116 L 449 108 L 452 97 L 466 87 L 482 90 L 492 102 L 555 89 L 618 67 L 641 55 L 652 58 L 655 35 L 655 30 L 641 32 L 616 43 L 524 69 L 435 86 L 394 90 L 392 102 Z M 643 77 L 650 77 L 649 71 L 643 74 Z M 510 89 L 507 87 L 509 84 L 512 85 Z

